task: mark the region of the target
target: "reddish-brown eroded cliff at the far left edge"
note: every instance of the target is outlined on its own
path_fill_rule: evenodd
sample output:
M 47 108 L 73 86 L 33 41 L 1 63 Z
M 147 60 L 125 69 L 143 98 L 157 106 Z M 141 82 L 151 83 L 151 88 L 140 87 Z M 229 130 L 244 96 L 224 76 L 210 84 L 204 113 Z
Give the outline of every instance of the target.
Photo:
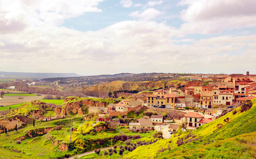
M 7 131 L 13 130 L 15 129 L 16 125 L 17 129 L 19 129 L 22 126 L 27 125 L 27 123 L 32 123 L 32 119 L 23 115 L 3 118 L 0 120 L 0 132 L 5 131 L 5 128 L 7 129 Z

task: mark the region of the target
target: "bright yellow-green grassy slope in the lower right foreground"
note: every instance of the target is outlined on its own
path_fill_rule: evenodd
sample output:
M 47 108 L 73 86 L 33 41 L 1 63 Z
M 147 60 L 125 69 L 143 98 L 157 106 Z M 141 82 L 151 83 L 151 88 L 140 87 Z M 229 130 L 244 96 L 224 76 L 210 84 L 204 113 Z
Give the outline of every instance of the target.
M 178 131 L 123 158 L 255 158 L 256 99 L 252 102 L 247 111 L 238 107 L 195 131 Z

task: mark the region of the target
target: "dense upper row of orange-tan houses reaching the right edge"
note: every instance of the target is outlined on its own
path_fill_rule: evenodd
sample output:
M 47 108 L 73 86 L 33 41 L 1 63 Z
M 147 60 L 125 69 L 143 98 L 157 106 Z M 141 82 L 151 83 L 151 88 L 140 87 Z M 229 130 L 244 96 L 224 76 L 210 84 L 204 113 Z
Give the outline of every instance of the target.
M 256 78 L 249 73 L 211 79 L 213 82 L 208 85 L 185 87 L 183 91 L 176 87 L 153 91 L 147 95 L 147 105 L 166 109 L 211 109 L 214 105 L 231 106 L 256 97 Z

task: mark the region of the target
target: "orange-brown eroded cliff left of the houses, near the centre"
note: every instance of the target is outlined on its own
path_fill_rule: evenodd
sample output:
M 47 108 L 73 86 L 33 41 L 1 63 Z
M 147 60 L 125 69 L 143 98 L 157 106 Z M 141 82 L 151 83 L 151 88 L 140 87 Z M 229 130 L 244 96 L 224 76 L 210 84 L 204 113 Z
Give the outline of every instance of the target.
M 79 97 L 67 97 L 62 107 L 54 109 L 55 115 L 84 115 L 88 107 L 106 107 L 107 102 L 93 101 L 91 99 L 80 99 Z

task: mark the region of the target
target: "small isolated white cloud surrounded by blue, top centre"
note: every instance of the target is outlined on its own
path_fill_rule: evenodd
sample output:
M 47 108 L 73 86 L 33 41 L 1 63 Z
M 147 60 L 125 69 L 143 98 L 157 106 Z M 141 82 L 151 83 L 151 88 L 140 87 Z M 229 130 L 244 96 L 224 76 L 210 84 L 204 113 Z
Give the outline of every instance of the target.
M 157 11 L 157 9 L 146 9 L 143 12 L 135 11 L 131 14 L 129 14 L 130 17 L 137 18 L 143 21 L 150 21 L 152 19 L 155 19 L 155 17 L 158 17 L 159 15 L 162 15 L 163 12 Z

